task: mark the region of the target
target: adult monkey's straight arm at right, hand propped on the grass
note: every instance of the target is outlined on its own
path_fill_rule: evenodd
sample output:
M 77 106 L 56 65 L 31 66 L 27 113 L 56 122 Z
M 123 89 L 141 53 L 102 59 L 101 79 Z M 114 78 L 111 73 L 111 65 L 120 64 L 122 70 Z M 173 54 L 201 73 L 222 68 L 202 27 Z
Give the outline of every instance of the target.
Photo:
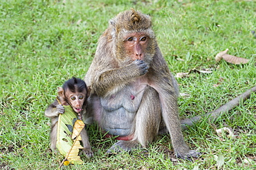
M 172 139 L 172 146 L 177 157 L 183 159 L 189 159 L 192 157 L 198 157 L 199 152 L 192 151 L 185 143 L 182 131 L 181 122 L 179 119 L 179 110 L 177 97 L 179 90 L 176 81 L 167 66 L 167 63 L 161 57 L 161 52 L 158 51 L 158 55 L 154 56 L 152 70 L 154 74 L 149 76 L 152 87 L 156 89 L 159 95 L 161 104 L 161 114 L 167 130 L 170 133 Z

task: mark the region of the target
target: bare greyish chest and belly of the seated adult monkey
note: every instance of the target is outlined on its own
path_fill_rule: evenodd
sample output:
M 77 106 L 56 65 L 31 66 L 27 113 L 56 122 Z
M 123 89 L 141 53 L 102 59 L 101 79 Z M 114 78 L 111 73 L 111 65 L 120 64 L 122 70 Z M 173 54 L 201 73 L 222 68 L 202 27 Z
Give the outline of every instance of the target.
M 102 129 L 113 136 L 129 136 L 133 133 L 134 118 L 145 86 L 135 88 L 128 86 L 118 94 L 107 98 L 100 98 L 102 105 Z

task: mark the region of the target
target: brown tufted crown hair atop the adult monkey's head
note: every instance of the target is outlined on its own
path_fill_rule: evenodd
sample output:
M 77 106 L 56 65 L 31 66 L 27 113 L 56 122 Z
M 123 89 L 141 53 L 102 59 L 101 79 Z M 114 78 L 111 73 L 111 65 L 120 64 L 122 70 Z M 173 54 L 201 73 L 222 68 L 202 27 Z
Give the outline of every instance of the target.
M 116 32 L 120 32 L 123 28 L 128 31 L 135 30 L 138 32 L 151 28 L 152 21 L 148 15 L 131 9 L 118 14 L 109 21 L 109 24 L 115 28 Z

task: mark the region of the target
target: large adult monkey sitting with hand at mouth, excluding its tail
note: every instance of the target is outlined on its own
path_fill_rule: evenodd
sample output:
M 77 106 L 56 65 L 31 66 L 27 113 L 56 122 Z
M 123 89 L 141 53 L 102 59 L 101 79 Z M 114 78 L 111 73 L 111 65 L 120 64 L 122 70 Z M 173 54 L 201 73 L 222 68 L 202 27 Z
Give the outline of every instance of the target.
M 91 85 L 89 112 L 102 131 L 118 136 L 107 152 L 147 147 L 159 131 L 169 131 L 177 157 L 199 156 L 185 144 L 179 87 L 148 15 L 132 9 L 109 21 L 84 81 Z

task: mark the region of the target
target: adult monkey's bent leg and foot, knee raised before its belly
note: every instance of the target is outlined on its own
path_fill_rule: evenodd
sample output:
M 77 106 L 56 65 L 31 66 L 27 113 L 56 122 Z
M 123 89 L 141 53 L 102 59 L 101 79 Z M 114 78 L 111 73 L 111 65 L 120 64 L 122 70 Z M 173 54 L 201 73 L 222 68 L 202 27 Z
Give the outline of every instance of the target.
M 119 140 L 107 153 L 131 151 L 140 147 L 147 147 L 158 134 L 161 122 L 161 107 L 158 93 L 152 87 L 146 87 L 143 100 L 134 118 L 134 138 L 132 140 Z

